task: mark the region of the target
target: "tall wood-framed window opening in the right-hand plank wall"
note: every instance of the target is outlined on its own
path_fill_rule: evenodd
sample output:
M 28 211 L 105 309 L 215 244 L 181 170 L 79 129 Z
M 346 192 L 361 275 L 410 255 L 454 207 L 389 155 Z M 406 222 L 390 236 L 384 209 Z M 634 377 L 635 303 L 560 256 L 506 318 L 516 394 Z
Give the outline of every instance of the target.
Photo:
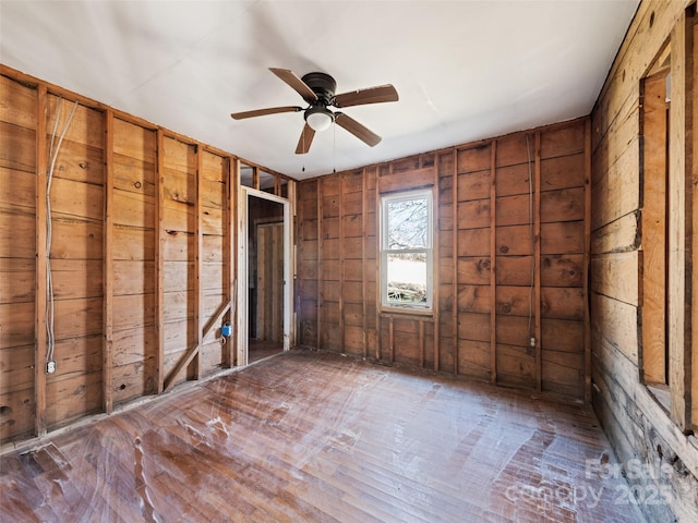
M 695 25 L 686 10 L 641 83 L 641 380 L 684 431 L 696 425 Z M 690 37 L 689 37 L 690 36 Z M 693 361 L 691 361 L 693 357 Z M 695 373 L 695 370 L 694 370 Z M 691 398 L 693 396 L 693 398 Z

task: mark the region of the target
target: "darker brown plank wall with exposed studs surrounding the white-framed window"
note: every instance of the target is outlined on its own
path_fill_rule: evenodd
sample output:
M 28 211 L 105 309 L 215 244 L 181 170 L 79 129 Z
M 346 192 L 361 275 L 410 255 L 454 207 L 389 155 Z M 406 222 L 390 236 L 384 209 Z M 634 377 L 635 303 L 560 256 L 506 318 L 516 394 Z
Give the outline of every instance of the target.
M 300 344 L 587 397 L 589 137 L 580 119 L 300 182 Z M 418 186 L 437 305 L 382 311 L 380 195 Z

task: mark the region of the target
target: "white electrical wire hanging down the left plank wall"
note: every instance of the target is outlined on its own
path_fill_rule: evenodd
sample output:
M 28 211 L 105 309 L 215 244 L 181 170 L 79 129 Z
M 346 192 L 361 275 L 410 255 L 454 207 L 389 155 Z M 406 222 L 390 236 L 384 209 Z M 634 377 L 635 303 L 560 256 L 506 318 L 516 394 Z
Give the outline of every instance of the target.
M 51 143 L 49 145 L 49 169 L 46 177 L 46 361 L 53 361 L 53 352 L 56 349 L 56 330 L 55 330 L 55 299 L 53 299 L 53 278 L 51 276 L 51 182 L 53 181 L 53 170 L 56 169 L 56 160 L 58 159 L 58 154 L 61 150 L 61 145 L 63 143 L 63 138 L 65 137 L 65 133 L 68 132 L 68 127 L 75 115 L 75 111 L 77 110 L 77 101 L 73 106 L 73 110 L 71 111 L 68 120 L 63 124 L 63 129 L 61 130 L 60 137 L 58 139 L 58 144 L 56 144 L 56 150 L 53 150 L 53 144 L 56 142 L 56 131 L 58 130 L 58 121 L 60 119 L 61 113 L 61 98 L 58 99 L 58 105 L 56 107 L 56 120 L 53 122 L 53 131 L 51 133 Z

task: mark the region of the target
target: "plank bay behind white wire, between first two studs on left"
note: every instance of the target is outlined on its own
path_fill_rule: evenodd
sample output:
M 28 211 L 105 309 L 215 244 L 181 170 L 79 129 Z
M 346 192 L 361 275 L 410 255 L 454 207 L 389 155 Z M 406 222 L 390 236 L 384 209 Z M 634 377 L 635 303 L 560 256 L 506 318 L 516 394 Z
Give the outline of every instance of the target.
M 49 95 L 45 129 L 51 212 L 43 220 L 51 232 L 46 256 L 51 259 L 53 292 L 49 287 L 48 300 L 55 317 L 53 353 L 47 357 L 56 362 L 56 373 L 46 378 L 46 427 L 53 429 L 101 411 L 105 401 L 105 113 Z M 82 235 L 88 248 L 75 248 Z M 95 236 L 98 241 L 91 242 Z

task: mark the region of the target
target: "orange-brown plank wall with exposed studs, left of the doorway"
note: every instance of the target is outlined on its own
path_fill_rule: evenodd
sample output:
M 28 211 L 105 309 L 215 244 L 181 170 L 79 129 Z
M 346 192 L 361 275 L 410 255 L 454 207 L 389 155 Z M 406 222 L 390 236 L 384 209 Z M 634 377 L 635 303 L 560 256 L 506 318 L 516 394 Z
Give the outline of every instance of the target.
M 1 441 L 234 365 L 240 160 L 0 73 Z

